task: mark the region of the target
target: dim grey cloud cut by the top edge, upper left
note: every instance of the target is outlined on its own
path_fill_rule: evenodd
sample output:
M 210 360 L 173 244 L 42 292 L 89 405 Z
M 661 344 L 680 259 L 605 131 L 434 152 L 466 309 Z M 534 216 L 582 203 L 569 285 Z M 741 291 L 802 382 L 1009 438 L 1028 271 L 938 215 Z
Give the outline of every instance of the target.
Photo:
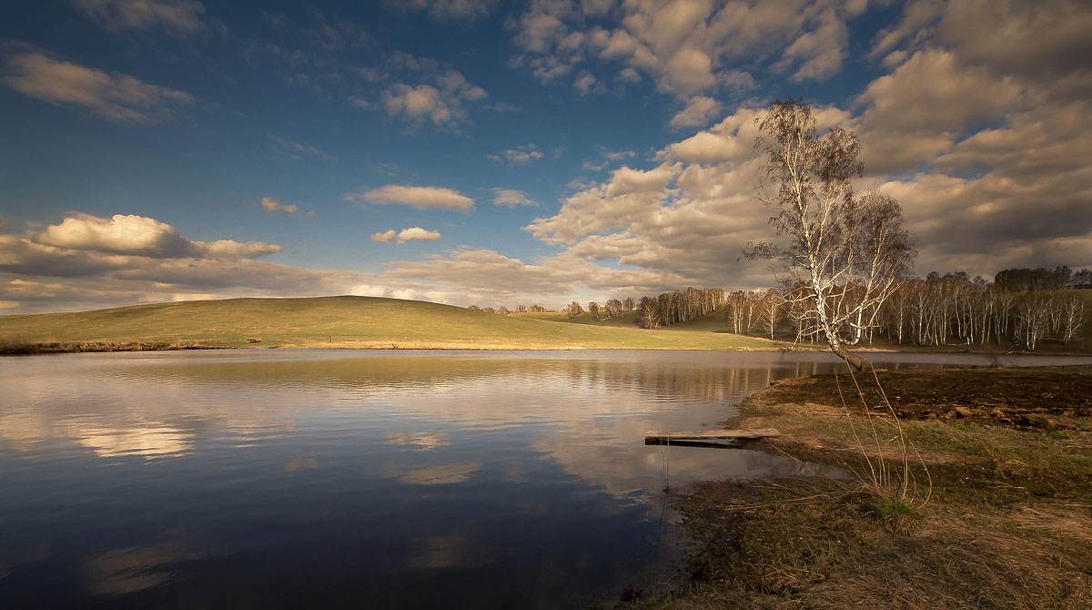
M 204 5 L 193 0 L 73 0 L 72 3 L 111 32 L 157 27 L 175 36 L 192 36 L 207 27 L 203 21 Z

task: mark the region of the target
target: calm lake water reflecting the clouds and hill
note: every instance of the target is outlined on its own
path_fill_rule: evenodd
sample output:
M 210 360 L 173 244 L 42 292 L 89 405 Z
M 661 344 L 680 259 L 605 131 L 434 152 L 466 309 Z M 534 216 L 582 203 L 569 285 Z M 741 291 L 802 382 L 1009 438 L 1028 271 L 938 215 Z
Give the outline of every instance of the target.
M 770 382 L 833 365 L 625 351 L 0 359 L 0 607 L 609 601 L 662 577 L 682 544 L 644 431 L 713 426 Z M 802 468 L 735 448 L 668 457 L 673 486 Z

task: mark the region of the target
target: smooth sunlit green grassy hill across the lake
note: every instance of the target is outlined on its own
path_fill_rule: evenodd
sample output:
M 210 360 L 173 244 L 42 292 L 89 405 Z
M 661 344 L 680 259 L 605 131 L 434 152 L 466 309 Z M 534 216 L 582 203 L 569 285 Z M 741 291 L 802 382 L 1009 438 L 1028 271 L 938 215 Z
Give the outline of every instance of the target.
M 586 319 L 585 319 L 586 318 Z M 561 324 L 561 322 L 570 324 Z M 575 322 L 575 324 L 572 324 Z M 725 333 L 709 316 L 657 330 L 589 314 L 499 316 L 462 307 L 368 296 L 230 298 L 64 314 L 0 316 L 8 342 L 147 342 L 244 347 L 437 349 L 775 349 Z M 721 332 L 716 332 L 720 330 Z

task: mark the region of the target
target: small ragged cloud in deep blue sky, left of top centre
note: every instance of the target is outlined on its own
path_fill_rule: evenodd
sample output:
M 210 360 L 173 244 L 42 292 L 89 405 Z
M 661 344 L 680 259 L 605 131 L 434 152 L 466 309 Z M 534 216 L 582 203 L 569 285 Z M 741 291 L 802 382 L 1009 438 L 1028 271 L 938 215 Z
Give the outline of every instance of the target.
M 431 121 L 434 126 L 458 129 L 470 121 L 463 104 L 480 102 L 488 97 L 486 91 L 466 82 L 456 71 L 448 70 L 434 79 L 432 84 L 407 85 L 394 83 L 381 96 L 388 115 L 413 124 Z

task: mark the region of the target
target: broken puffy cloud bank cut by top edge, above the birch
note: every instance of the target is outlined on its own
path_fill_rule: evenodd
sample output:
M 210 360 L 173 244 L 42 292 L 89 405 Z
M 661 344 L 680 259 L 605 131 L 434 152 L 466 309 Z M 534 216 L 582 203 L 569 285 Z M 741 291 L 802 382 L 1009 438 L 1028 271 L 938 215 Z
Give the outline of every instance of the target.
M 620 62 L 624 82 L 644 73 L 660 91 L 684 98 L 753 87 L 751 75 L 734 66 L 743 60 L 761 64 L 776 58 L 774 68 L 791 72 L 793 80 L 824 80 L 841 69 L 846 55 L 845 21 L 865 4 L 538 0 L 513 22 L 513 40 L 524 54 L 513 63 L 547 83 L 596 60 Z M 596 81 L 587 68 L 573 86 L 586 94 Z

